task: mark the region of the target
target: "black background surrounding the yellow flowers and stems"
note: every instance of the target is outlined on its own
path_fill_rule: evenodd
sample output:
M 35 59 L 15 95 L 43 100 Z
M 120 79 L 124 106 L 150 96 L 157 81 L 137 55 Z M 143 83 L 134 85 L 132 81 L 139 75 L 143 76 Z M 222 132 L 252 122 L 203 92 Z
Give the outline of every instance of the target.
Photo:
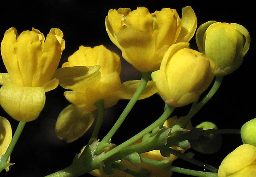
M 80 45 L 97 46 L 105 45 L 121 56 L 120 51 L 111 43 L 105 30 L 105 17 L 109 9 L 119 7 L 137 6 L 148 7 L 150 12 L 161 10 L 165 7 L 175 8 L 181 16 L 181 9 L 187 5 L 192 6 L 197 18 L 198 26 L 208 20 L 218 22 L 238 23 L 245 26 L 251 34 L 251 47 L 244 58 L 244 63 L 238 70 L 226 76 L 216 95 L 196 114 L 192 119 L 193 125 L 202 121 L 212 121 L 219 128 L 240 128 L 243 123 L 256 117 L 255 111 L 255 58 L 254 46 L 254 21 L 255 15 L 252 4 L 243 1 L 243 4 L 228 4 L 224 1 L 197 3 L 190 1 L 82 1 L 82 0 L 52 0 L 52 1 L 7 1 L 1 5 L 0 38 L 2 40 L 5 30 L 15 27 L 18 33 L 31 30 L 31 27 L 39 29 L 45 36 L 52 27 L 60 28 L 64 33 L 66 48 L 63 51 L 60 66 L 67 57 L 78 50 Z M 212 4 L 211 4 L 212 3 Z M 197 49 L 195 38 L 191 40 L 191 47 Z M 122 81 L 140 79 L 140 73 L 130 64 L 122 60 Z M 0 72 L 6 72 L 2 60 Z M 11 162 L 15 163 L 9 172 L 2 171 L 0 176 L 10 177 L 41 177 L 61 170 L 72 163 L 76 153 L 87 144 L 92 128 L 86 135 L 73 143 L 66 143 L 57 138 L 54 127 L 60 111 L 69 105 L 63 96 L 64 89 L 60 86 L 46 93 L 46 105 L 40 116 L 32 122 L 28 122 L 22 135 L 11 154 Z M 120 100 L 118 104 L 106 110 L 106 119 L 102 125 L 99 138 L 103 138 L 108 130 L 121 114 L 127 100 Z M 157 119 L 163 110 L 164 103 L 158 95 L 153 95 L 145 100 L 139 100 L 132 112 L 126 118 L 112 138 L 114 143 L 121 143 Z M 176 115 L 186 115 L 188 106 L 175 110 Z M 11 125 L 13 133 L 18 121 L 13 120 L 0 108 L 0 116 L 6 117 Z M 218 167 L 222 159 L 234 148 L 241 144 L 237 135 L 223 136 L 223 147 L 220 152 L 212 155 L 197 153 L 194 157 L 215 167 Z M 191 150 L 194 152 L 193 150 Z M 194 165 L 176 160 L 173 165 L 195 170 L 204 170 Z M 87 176 L 87 175 L 84 175 Z M 183 176 L 174 174 L 173 176 Z

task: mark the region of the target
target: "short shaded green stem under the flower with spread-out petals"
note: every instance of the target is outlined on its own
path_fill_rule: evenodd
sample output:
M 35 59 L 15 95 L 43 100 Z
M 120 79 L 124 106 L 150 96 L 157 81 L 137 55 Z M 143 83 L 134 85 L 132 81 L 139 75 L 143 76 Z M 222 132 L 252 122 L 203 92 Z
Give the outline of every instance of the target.
M 97 109 L 98 109 L 98 117 L 97 117 L 97 120 L 96 120 L 94 129 L 93 129 L 91 138 L 90 138 L 90 140 L 89 140 L 87 146 L 90 145 L 93 141 L 96 140 L 96 138 L 97 138 L 97 136 L 98 136 L 99 129 L 101 128 L 102 121 L 103 121 L 103 118 L 104 118 L 104 111 L 105 111 L 105 108 L 104 108 L 104 100 L 101 99 L 101 100 L 97 101 L 94 105 L 95 105 L 95 106 L 97 107 Z

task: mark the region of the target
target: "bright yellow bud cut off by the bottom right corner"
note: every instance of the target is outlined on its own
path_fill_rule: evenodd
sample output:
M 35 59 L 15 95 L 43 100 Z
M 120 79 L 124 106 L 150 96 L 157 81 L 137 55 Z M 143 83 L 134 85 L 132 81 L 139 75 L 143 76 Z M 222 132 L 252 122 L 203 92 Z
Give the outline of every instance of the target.
M 243 144 L 228 154 L 222 161 L 218 177 L 255 177 L 256 147 Z

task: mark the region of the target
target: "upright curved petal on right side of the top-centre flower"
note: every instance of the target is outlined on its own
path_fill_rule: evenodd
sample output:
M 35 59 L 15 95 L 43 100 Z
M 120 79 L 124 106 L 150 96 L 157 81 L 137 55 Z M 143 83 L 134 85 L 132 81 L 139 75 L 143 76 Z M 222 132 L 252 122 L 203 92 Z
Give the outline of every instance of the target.
M 176 43 L 189 42 L 194 36 L 197 27 L 196 14 L 191 6 L 182 8 L 181 26 Z

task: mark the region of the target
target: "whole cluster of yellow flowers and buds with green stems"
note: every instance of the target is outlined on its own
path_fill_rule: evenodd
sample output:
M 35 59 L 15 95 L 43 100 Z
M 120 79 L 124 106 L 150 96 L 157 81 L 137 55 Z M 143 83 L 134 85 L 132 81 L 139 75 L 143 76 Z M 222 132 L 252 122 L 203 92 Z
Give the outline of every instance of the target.
M 44 108 L 45 92 L 58 85 L 68 89 L 64 96 L 70 105 L 60 112 L 55 125 L 57 136 L 68 143 L 85 134 L 94 122 L 94 111 L 98 110 L 92 137 L 74 158 L 75 167 L 70 168 L 82 168 L 84 164 L 79 163 L 87 160 L 86 173 L 95 176 L 109 176 L 107 173 L 111 175 L 111 172 L 114 176 L 126 176 L 126 173 L 143 170 L 152 176 L 171 176 L 174 170 L 170 170 L 171 164 L 177 156 L 197 163 L 190 153 L 183 154 L 188 148 L 205 154 L 218 151 L 222 138 L 217 126 L 203 122 L 193 128 L 190 119 L 207 102 L 209 95 L 216 92 L 216 83 L 242 64 L 250 47 L 247 29 L 236 23 L 208 21 L 196 32 L 197 17 L 190 6 L 182 9 L 181 18 L 171 8 L 153 13 L 146 7 L 111 9 L 105 25 L 110 40 L 121 50 L 122 57 L 141 71 L 141 80 L 121 82 L 120 57 L 103 45 L 93 48 L 80 46 L 57 69 L 65 49 L 60 29 L 52 28 L 45 38 L 37 29 L 19 35 L 12 27 L 5 32 L 1 43 L 1 55 L 7 70 L 7 73 L 0 73 L 2 108 L 15 120 L 33 121 Z M 190 48 L 189 42 L 195 32 L 199 51 Z M 214 78 L 210 94 L 199 102 Z M 135 102 L 155 93 L 165 102 L 163 115 L 120 146 L 111 144 L 113 134 Z M 117 123 L 99 142 L 97 131 L 103 112 L 98 104 L 104 111 L 120 99 L 129 99 L 130 102 Z M 192 103 L 187 116 L 167 119 L 176 107 Z M 255 175 L 255 124 L 253 119 L 241 128 L 241 137 L 246 144 L 222 161 L 219 177 Z M 212 131 L 203 134 L 207 132 L 204 130 Z M 6 118 L 0 117 L 0 170 L 5 168 L 8 171 L 11 165 L 9 156 L 6 158 L 11 142 L 11 125 Z M 114 152 L 115 149 L 118 151 Z M 113 164 L 118 170 L 112 169 Z M 76 171 L 78 174 L 84 172 L 83 169 Z

